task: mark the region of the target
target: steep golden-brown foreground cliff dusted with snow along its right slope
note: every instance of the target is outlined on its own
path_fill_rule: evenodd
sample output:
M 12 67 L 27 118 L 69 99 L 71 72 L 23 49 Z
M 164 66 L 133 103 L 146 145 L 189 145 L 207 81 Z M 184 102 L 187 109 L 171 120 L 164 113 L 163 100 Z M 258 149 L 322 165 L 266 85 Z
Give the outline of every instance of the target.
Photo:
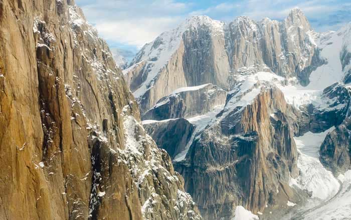
M 0 2 L 0 41 L 1 219 L 201 219 L 73 1 Z

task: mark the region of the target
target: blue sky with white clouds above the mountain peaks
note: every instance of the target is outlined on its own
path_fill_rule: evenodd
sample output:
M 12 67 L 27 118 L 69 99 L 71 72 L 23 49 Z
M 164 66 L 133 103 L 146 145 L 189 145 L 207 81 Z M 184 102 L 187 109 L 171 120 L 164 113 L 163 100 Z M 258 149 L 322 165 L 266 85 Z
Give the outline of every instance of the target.
M 194 15 L 230 22 L 238 16 L 254 20 L 268 17 L 283 20 L 293 8 L 300 8 L 318 32 L 335 31 L 351 22 L 349 0 L 76 0 L 111 48 L 136 52 L 159 34 Z

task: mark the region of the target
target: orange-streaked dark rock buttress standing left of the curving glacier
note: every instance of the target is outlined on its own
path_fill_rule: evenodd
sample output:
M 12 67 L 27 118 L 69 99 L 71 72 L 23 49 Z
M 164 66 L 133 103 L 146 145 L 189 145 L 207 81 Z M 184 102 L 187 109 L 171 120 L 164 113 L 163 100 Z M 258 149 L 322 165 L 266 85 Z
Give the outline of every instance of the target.
M 232 99 L 251 92 L 256 88 Z M 262 87 L 249 104 L 228 101 L 175 163 L 205 219 L 230 219 L 237 205 L 257 213 L 293 196 L 288 182 L 298 175 L 297 151 L 288 107 L 277 88 Z

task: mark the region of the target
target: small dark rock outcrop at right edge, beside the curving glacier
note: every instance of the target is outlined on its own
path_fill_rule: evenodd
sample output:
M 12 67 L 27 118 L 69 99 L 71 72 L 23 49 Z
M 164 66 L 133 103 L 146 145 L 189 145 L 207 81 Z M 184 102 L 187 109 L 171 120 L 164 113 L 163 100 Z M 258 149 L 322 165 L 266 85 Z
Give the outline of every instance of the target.
M 336 175 L 351 169 L 351 120 L 330 132 L 320 146 L 320 161 Z

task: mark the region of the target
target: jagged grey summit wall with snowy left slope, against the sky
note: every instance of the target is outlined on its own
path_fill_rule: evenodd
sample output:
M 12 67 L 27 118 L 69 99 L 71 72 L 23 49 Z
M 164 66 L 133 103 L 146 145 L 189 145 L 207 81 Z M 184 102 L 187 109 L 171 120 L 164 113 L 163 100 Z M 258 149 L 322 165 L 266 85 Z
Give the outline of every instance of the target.
M 229 89 L 242 67 L 297 77 L 307 85 L 310 73 L 326 63 L 317 38 L 299 9 L 282 22 L 239 17 L 224 24 L 198 16 L 145 45 L 124 76 L 142 112 L 180 87 L 212 83 Z

